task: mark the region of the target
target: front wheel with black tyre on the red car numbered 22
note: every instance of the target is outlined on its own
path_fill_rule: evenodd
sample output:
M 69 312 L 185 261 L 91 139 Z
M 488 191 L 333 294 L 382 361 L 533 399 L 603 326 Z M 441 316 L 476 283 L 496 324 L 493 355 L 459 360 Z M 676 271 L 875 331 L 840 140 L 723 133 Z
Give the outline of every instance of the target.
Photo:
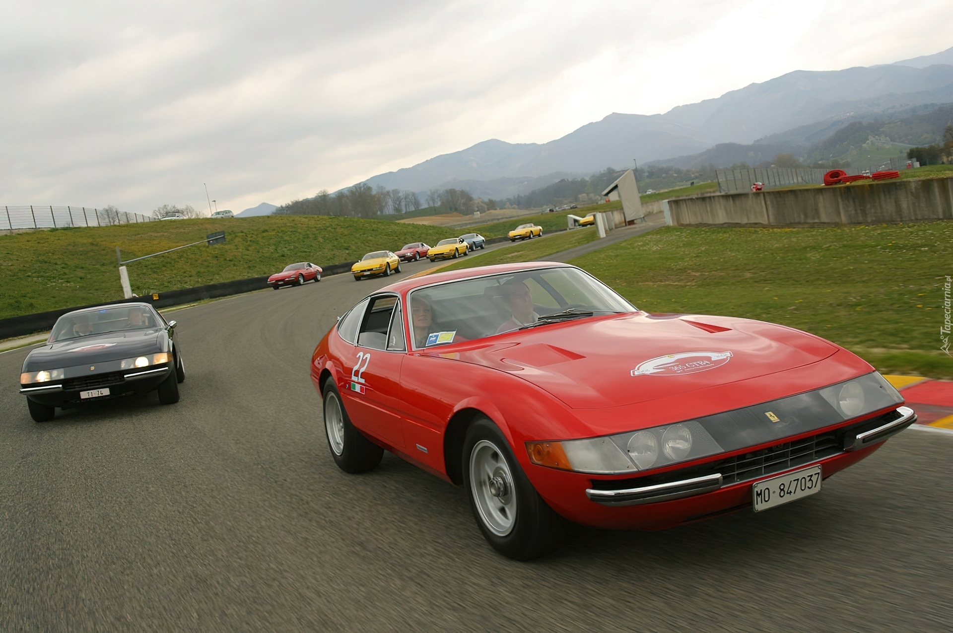
M 460 464 L 463 487 L 483 538 L 503 556 L 529 561 L 558 548 L 566 521 L 542 500 L 490 419 L 467 429 Z M 491 485 L 502 480 L 503 493 Z

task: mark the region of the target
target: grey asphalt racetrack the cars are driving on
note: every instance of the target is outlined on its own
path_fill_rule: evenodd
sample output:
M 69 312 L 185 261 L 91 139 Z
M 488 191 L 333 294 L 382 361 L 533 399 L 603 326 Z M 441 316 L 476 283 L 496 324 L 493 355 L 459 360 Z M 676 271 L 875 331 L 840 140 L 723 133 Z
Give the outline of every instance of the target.
M 0 630 L 949 630 L 940 433 L 902 433 L 759 515 L 578 528 L 529 563 L 484 543 L 460 489 L 392 455 L 340 472 L 308 363 L 385 283 L 175 312 L 188 378 L 169 406 L 37 424 L 16 393 L 27 349 L 0 355 Z

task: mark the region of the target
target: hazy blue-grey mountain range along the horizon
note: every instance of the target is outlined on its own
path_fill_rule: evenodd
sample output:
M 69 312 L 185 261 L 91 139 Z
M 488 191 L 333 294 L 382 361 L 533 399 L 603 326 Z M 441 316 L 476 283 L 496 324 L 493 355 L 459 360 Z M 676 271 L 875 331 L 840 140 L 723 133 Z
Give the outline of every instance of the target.
M 633 159 L 639 164 L 668 162 L 719 144 L 761 144 L 767 156 L 793 144 L 820 141 L 851 121 L 949 102 L 953 48 L 887 65 L 792 71 L 663 114 L 613 112 L 548 143 L 490 139 L 364 182 L 386 189 L 454 187 L 482 197 L 505 197 L 563 177 L 630 167 Z

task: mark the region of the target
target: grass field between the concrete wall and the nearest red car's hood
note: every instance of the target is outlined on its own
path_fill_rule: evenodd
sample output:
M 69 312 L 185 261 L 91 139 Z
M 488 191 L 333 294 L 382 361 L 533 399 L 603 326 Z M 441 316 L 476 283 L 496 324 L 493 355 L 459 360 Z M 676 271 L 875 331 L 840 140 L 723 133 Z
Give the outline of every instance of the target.
M 940 351 L 953 222 L 665 227 L 576 264 L 643 310 L 745 316 L 828 338 L 878 369 L 953 378 Z

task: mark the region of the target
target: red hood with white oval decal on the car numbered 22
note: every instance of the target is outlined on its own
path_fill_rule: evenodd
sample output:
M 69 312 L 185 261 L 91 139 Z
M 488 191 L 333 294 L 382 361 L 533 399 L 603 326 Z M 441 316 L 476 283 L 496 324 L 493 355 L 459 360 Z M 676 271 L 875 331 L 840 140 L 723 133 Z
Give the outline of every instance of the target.
M 745 318 L 646 313 L 570 321 L 483 342 L 429 353 L 512 372 L 575 409 L 679 396 L 801 367 L 839 349 Z

